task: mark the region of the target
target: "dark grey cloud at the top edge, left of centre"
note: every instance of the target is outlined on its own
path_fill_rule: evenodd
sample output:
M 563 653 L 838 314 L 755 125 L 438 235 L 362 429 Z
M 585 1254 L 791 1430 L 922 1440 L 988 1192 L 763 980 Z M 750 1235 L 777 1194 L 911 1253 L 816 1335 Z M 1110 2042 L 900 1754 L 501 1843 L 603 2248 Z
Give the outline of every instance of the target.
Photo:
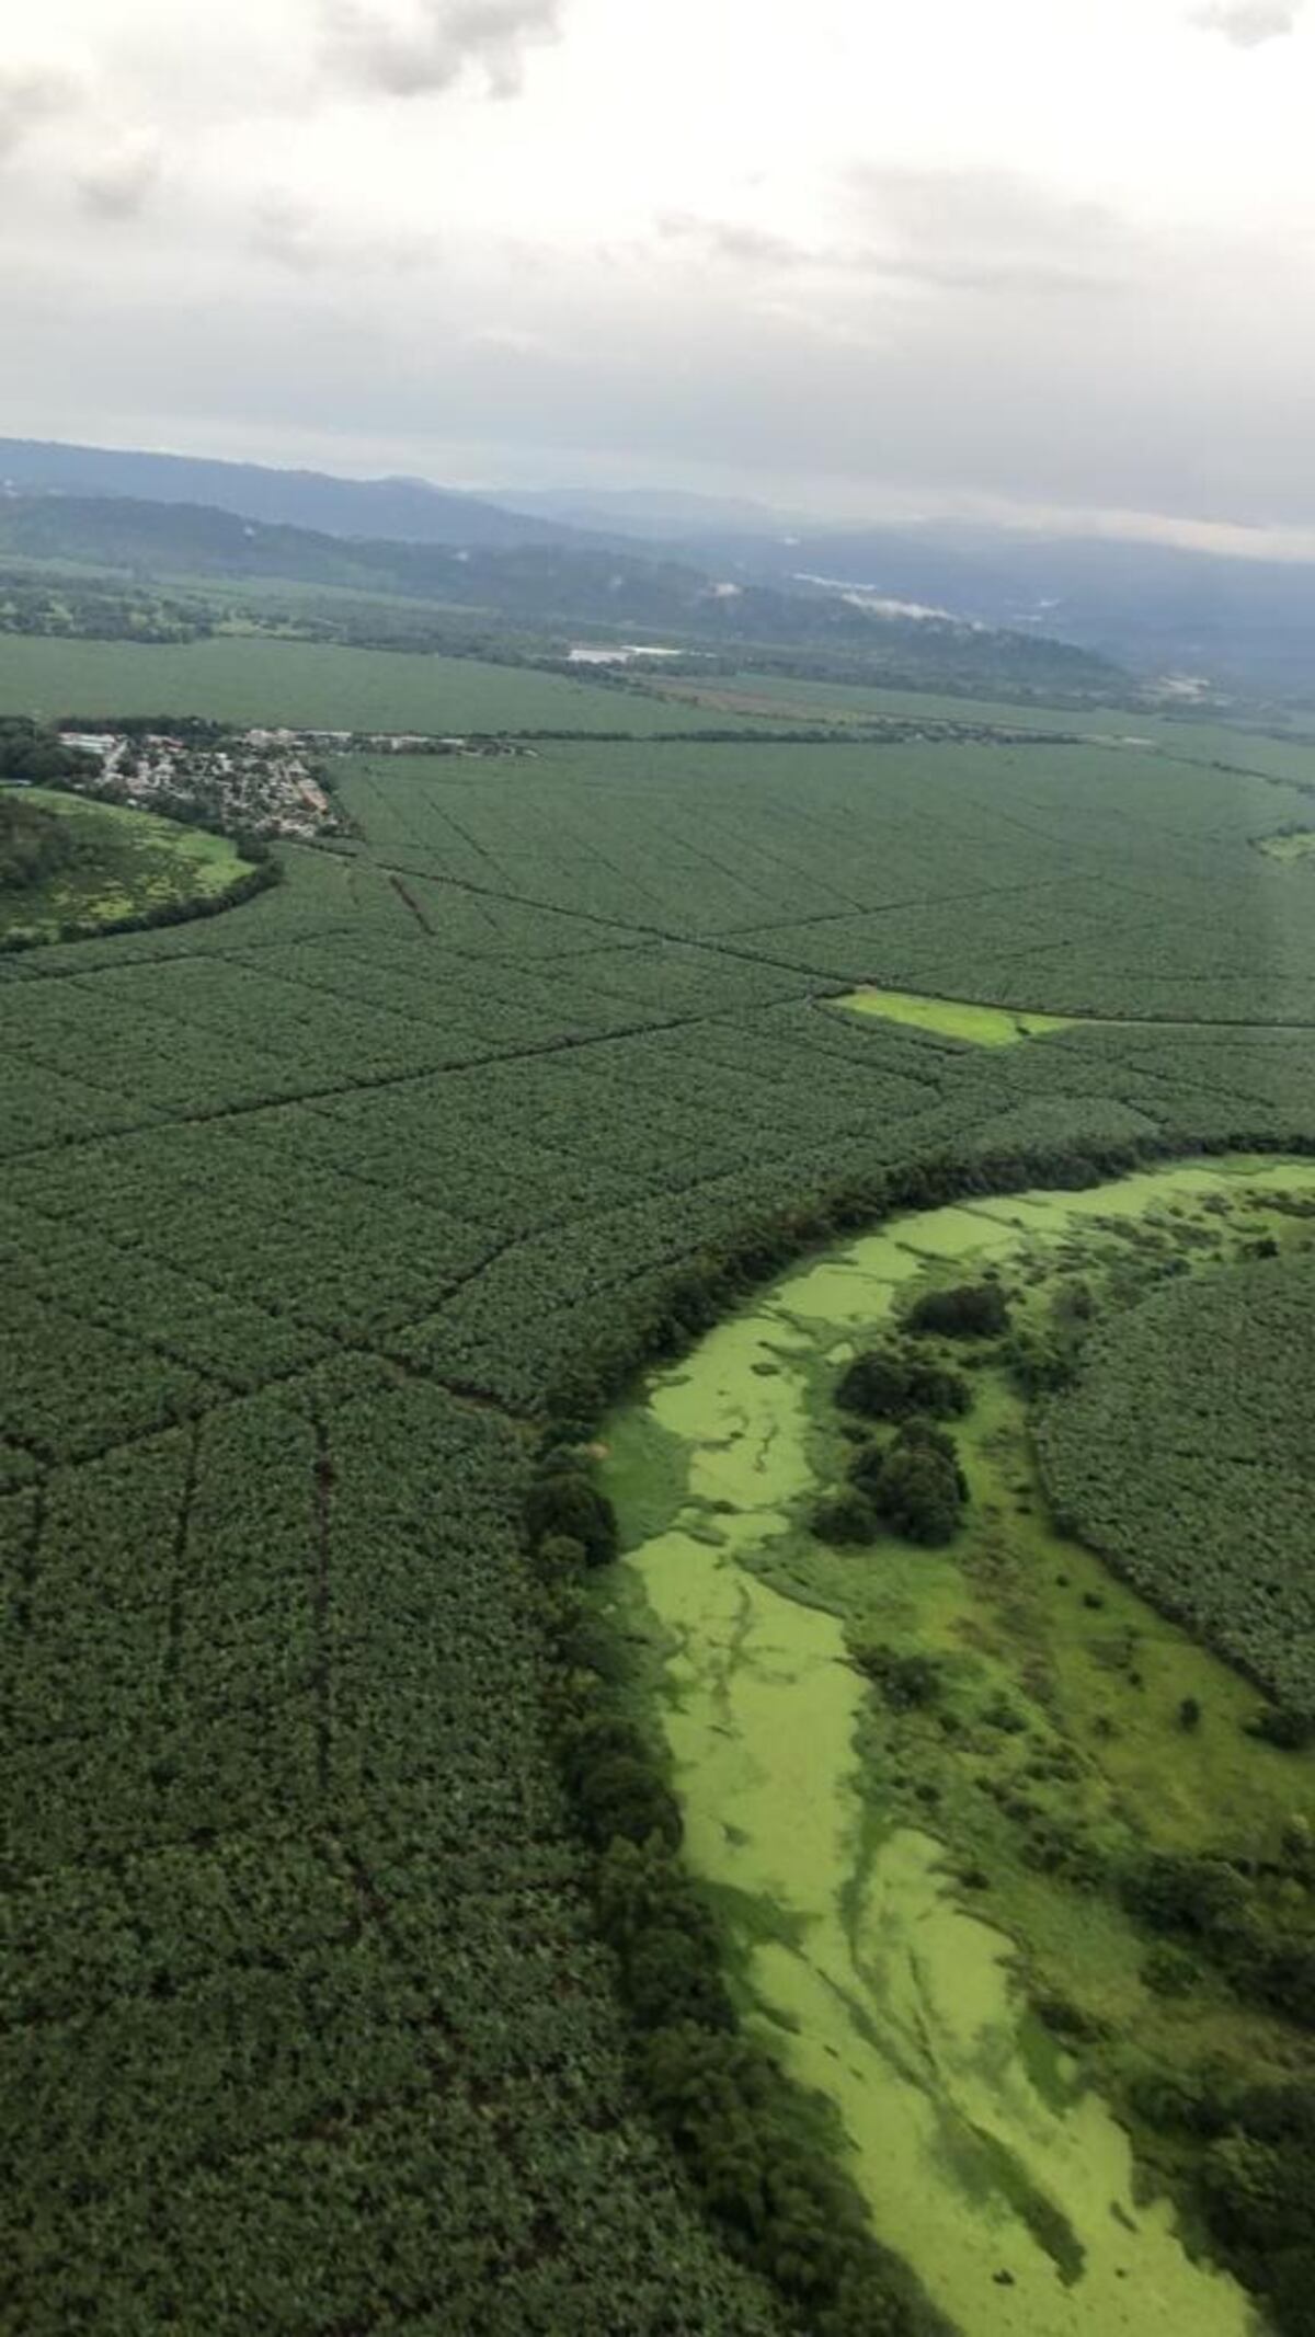
M 413 98 L 474 70 L 509 98 L 526 49 L 561 37 L 563 0 L 320 0 L 320 12 L 336 68 L 367 89 Z

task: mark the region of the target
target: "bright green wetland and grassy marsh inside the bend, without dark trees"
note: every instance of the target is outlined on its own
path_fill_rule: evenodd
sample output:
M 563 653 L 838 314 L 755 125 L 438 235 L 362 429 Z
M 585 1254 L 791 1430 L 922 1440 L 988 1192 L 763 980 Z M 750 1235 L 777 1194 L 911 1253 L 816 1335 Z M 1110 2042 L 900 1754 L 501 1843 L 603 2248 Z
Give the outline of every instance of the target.
M 1208 1972 L 1147 1984 L 1152 1942 L 1102 1874 L 1137 1849 L 1264 1856 L 1315 1790 L 1308 1755 L 1245 1734 L 1254 1687 L 1053 1531 L 993 1353 L 955 1355 L 953 1545 L 815 1540 L 846 1458 L 836 1367 L 965 1269 L 1042 1330 L 1065 1292 L 1105 1313 L 1306 1246 L 1306 1194 L 1310 1164 L 1226 1159 L 906 1215 L 775 1283 L 610 1423 L 628 1554 L 603 1596 L 656 1690 L 740 2007 L 829 2099 L 878 2237 L 967 2337 L 1261 2325 L 1121 2089 L 1203 2059 L 1292 2075 L 1308 2045 Z M 855 1662 L 874 1645 L 934 1662 L 932 1711 L 878 1692 Z

